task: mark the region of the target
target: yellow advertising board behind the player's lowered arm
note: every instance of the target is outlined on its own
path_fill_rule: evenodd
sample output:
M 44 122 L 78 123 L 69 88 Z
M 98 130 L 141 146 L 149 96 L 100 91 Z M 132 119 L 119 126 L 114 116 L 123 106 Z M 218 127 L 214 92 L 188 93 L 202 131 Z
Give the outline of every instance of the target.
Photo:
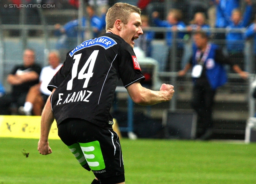
M 0 137 L 40 138 L 41 116 L 0 115 Z M 49 139 L 60 139 L 56 121 L 52 123 Z

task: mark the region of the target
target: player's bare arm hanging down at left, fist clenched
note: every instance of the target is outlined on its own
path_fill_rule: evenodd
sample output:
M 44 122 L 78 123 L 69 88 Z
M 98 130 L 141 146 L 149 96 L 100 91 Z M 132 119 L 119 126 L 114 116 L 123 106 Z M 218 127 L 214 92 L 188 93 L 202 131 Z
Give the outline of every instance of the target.
M 52 90 L 52 94 L 56 88 Z M 52 123 L 54 121 L 54 116 L 51 108 L 50 98 L 52 95 L 49 96 L 47 102 L 44 106 L 42 116 L 41 116 L 41 134 L 40 139 L 38 141 L 38 151 L 42 155 L 48 155 L 52 153 L 52 149 L 49 146 L 48 137 L 50 133 L 50 129 L 52 127 Z

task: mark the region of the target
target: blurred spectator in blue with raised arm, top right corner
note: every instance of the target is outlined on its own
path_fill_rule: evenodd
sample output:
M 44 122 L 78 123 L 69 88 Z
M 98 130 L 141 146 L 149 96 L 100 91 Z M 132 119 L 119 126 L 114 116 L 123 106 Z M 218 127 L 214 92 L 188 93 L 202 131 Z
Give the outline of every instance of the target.
M 232 32 L 235 28 L 245 28 L 252 14 L 252 5 L 248 1 L 244 16 L 242 17 L 242 12 L 239 9 L 234 9 L 232 11 L 231 20 L 229 20 L 229 25 L 227 29 L 230 31 L 226 34 L 226 45 L 228 52 L 237 53 L 244 51 L 244 34 Z

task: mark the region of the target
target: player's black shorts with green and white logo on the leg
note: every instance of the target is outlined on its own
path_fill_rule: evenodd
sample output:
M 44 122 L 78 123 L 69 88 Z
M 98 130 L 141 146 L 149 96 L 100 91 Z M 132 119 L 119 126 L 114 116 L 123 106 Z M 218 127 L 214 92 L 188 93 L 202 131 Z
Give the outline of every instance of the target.
M 84 119 L 69 118 L 58 125 L 58 135 L 69 148 L 77 143 L 80 145 L 90 169 L 102 184 L 124 182 L 120 141 L 112 129 L 103 129 Z M 73 149 L 70 151 L 73 153 Z

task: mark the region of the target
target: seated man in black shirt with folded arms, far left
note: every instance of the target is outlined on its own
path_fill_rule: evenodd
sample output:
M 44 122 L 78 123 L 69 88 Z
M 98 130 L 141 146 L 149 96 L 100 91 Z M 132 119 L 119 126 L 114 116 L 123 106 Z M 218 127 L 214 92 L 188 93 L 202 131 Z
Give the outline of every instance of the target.
M 7 82 L 12 86 L 12 91 L 0 98 L 0 108 L 8 109 L 10 104 L 16 107 L 22 106 L 29 88 L 38 84 L 40 72 L 41 67 L 35 64 L 34 51 L 26 49 L 23 54 L 23 64 L 14 66 L 7 76 Z

